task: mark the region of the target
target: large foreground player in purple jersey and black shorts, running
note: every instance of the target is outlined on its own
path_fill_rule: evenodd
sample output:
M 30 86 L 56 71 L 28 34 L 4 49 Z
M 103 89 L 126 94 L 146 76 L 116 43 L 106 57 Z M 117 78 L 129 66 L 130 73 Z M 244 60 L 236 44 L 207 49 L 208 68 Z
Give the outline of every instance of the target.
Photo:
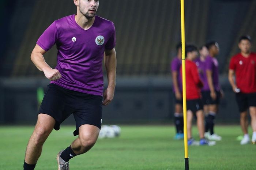
M 101 128 L 102 105 L 108 105 L 116 86 L 114 24 L 96 16 L 98 0 L 74 0 L 75 15 L 54 21 L 38 39 L 31 60 L 51 80 L 27 145 L 24 170 L 33 170 L 53 128 L 73 114 L 76 121 L 71 146 L 57 154 L 59 170 L 69 170 L 69 159 L 90 150 Z M 50 68 L 43 54 L 56 44 L 57 65 Z M 102 60 L 108 76 L 103 93 Z M 102 101 L 103 100 L 103 101 Z

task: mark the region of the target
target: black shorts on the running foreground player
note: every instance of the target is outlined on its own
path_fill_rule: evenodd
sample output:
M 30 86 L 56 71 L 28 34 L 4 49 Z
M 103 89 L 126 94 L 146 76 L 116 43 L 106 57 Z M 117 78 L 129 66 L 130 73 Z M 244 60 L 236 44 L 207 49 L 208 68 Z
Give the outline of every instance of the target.
M 49 84 L 38 114 L 44 113 L 55 120 L 54 129 L 73 114 L 76 121 L 74 136 L 79 134 L 81 125 L 94 125 L 101 128 L 102 96 L 68 90 L 56 84 Z

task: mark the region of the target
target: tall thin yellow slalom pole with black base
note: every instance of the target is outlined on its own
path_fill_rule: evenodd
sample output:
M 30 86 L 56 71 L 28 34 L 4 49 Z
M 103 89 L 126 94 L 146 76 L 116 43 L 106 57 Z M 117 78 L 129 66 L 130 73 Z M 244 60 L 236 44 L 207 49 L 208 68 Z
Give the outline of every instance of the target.
M 181 12 L 181 45 L 182 45 L 182 93 L 183 93 L 183 121 L 184 121 L 184 148 L 185 148 L 185 170 L 188 166 L 188 130 L 187 130 L 187 97 L 186 97 L 186 67 L 185 67 L 185 14 L 184 0 L 180 0 Z

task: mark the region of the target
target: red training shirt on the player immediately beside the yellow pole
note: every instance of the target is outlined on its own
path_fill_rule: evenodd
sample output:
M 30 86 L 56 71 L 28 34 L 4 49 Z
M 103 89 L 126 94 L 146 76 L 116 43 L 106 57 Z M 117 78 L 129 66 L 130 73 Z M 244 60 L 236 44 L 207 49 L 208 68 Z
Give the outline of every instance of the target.
M 193 61 L 186 60 L 186 93 L 187 99 L 199 99 L 201 97 L 200 88 L 203 87 L 203 83 L 199 78 L 196 64 Z M 182 68 L 180 69 L 182 76 Z

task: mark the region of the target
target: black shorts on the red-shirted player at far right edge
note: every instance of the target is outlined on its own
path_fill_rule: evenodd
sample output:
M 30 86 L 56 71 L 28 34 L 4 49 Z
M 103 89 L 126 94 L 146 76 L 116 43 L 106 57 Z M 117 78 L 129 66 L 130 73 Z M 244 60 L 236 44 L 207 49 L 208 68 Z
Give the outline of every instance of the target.
M 236 101 L 239 112 L 246 111 L 250 106 L 256 106 L 256 92 L 254 93 L 236 93 Z

